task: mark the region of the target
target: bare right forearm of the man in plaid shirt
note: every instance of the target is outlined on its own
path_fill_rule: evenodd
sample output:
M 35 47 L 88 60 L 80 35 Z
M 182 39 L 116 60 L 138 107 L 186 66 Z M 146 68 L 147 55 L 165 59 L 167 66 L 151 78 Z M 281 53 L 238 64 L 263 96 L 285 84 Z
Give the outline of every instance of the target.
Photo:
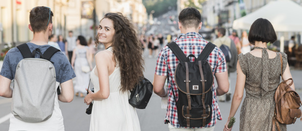
M 227 71 L 215 73 L 215 78 L 218 87 L 216 87 L 216 94 L 221 96 L 229 91 L 230 83 L 227 75 Z

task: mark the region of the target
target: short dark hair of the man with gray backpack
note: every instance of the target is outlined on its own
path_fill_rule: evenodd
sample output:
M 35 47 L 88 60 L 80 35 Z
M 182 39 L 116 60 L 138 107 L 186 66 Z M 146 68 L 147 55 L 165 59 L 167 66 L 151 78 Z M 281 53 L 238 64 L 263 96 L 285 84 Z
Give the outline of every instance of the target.
M 48 7 L 37 6 L 32 8 L 30 12 L 30 24 L 32 26 L 33 33 L 41 31 L 45 32 L 49 23 L 52 23 L 52 16 L 53 13 Z

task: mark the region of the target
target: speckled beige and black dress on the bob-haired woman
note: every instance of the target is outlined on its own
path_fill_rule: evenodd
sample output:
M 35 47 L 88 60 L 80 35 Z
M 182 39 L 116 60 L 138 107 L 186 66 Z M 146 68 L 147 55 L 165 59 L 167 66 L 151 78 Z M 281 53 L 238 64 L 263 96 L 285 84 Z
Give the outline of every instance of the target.
M 262 49 L 262 57 L 251 53 L 238 55 L 239 65 L 246 76 L 246 97 L 240 110 L 240 131 L 272 131 L 272 118 L 275 107 L 274 93 L 280 83 L 281 62 L 277 53 L 275 58 L 269 58 L 267 48 Z M 281 52 L 283 72 L 286 69 L 287 55 Z M 280 124 L 281 131 L 286 131 L 286 125 Z

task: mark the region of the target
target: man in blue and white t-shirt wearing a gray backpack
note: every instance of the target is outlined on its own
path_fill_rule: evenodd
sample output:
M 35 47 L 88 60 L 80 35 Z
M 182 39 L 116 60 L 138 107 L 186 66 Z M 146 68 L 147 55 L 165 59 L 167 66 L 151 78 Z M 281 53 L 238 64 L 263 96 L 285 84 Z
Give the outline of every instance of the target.
M 33 39 L 5 55 L 0 96 L 13 98 L 9 131 L 64 131 L 58 100 L 73 100 L 76 75 L 64 53 L 48 45 L 52 16 L 50 8 L 34 7 L 28 25 Z

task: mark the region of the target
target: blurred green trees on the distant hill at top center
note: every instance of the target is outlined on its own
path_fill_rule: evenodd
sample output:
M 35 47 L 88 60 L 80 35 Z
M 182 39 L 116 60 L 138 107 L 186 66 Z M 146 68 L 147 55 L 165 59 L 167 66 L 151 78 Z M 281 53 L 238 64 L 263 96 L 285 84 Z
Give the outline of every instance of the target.
M 153 16 L 156 17 L 168 12 L 172 8 L 176 9 L 176 2 L 177 0 L 143 0 L 143 5 L 146 7 L 148 14 L 154 11 Z

